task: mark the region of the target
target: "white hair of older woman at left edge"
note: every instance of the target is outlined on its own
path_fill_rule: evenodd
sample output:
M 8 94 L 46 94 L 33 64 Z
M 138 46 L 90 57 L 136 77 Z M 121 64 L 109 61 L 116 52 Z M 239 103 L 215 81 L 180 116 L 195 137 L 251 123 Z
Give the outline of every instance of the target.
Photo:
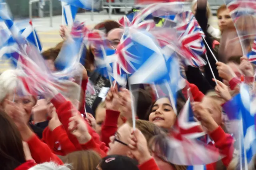
M 6 70 L 0 75 L 0 103 L 15 90 L 17 82 L 17 70 Z

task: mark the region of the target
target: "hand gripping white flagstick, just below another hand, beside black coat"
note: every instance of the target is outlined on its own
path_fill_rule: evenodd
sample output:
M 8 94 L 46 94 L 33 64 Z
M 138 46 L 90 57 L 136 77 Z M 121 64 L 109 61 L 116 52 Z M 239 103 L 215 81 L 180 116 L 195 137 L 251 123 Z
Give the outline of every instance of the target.
M 222 83 L 219 80 L 214 80 L 217 83 L 217 85 L 215 86 L 215 92 L 221 97 L 223 98 L 226 102 L 228 100 L 231 100 L 232 96 L 230 95 L 228 86 L 226 86 L 224 83 Z

